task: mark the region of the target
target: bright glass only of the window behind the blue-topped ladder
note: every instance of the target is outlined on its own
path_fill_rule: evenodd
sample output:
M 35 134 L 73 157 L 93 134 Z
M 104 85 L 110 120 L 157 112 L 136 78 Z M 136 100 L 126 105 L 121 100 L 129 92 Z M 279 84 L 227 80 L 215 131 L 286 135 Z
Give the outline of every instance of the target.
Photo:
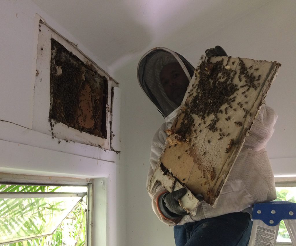
M 289 201 L 296 203 L 296 187 L 276 187 L 275 201 Z M 277 242 L 291 242 L 284 221 L 280 222 Z

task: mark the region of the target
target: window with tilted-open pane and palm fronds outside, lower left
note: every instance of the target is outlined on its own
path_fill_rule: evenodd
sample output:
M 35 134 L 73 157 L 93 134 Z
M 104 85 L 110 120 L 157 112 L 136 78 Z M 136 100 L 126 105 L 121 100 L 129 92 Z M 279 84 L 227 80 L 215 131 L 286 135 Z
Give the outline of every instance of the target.
M 87 245 L 91 188 L 1 183 L 0 245 Z

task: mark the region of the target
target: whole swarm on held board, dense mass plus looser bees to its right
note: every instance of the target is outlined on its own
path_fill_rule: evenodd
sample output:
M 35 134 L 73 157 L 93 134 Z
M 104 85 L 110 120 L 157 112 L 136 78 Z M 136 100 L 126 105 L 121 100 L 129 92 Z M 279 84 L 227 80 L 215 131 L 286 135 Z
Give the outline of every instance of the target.
M 199 69 L 195 70 L 195 76 L 199 77 L 199 83 L 194 85 L 191 91 L 188 92 L 189 96 L 183 110 L 183 120 L 180 128 L 176 131 L 176 133 L 181 135 L 183 139 L 189 138 L 189 141 L 191 141 L 190 136 L 192 131 L 195 133 L 197 132 L 197 130 L 194 129 L 195 123 L 192 115 L 197 115 L 204 124 L 206 124 L 206 117 L 213 115 L 214 117 L 211 119 L 211 122 L 207 123 L 205 126 L 205 128 L 212 132 L 218 131 L 216 124 L 220 120 L 220 115 L 224 113 L 227 115 L 229 109 L 236 111 L 237 108 L 241 108 L 244 110 L 244 118 L 247 117 L 249 111 L 244 108 L 244 105 L 248 104 L 247 92 L 250 88 L 255 90 L 258 88 L 260 85 L 258 81 L 261 79 L 261 75 L 255 76 L 252 72 L 250 73 L 249 70 L 252 69 L 252 66 L 247 68 L 243 60 L 239 58 L 238 77 L 240 82 L 242 82 L 242 78 L 244 78 L 245 82 L 245 84 L 241 85 L 240 88 L 247 88 L 242 92 L 242 96 L 245 98 L 245 101 L 238 102 L 237 105 L 233 105 L 236 100 L 236 96 L 234 94 L 239 90 L 239 86 L 233 83 L 237 71 L 232 70 L 230 66 L 228 66 L 230 61 L 231 56 L 228 57 L 226 65 L 224 66 L 223 58 L 215 63 L 210 62 L 209 60 L 204 60 L 200 64 Z M 235 62 L 236 61 L 232 61 L 231 64 L 234 65 Z M 258 69 L 254 70 L 257 71 Z M 192 97 L 193 94 L 195 95 Z M 224 104 L 227 104 L 227 107 L 222 108 L 222 105 Z M 225 118 L 226 121 L 229 121 L 230 119 L 231 116 L 229 115 Z M 235 121 L 234 124 L 239 127 L 243 125 L 241 121 Z M 201 123 L 199 126 L 200 125 Z M 202 132 L 202 130 L 199 132 Z M 223 133 L 221 128 L 219 128 L 220 137 L 218 140 L 223 139 L 224 136 L 229 137 L 230 134 L 231 133 Z M 208 139 L 207 142 L 210 143 L 211 141 Z M 233 145 L 234 140 L 231 139 L 225 152 L 229 153 Z

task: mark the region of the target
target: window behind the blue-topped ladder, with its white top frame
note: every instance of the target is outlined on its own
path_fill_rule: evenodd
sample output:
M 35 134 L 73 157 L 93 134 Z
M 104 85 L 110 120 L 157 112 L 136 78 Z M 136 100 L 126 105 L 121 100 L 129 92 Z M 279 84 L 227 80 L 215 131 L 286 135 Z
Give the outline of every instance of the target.
M 296 182 L 276 182 L 276 200 L 296 203 Z M 277 245 L 292 245 L 284 221 L 280 222 Z

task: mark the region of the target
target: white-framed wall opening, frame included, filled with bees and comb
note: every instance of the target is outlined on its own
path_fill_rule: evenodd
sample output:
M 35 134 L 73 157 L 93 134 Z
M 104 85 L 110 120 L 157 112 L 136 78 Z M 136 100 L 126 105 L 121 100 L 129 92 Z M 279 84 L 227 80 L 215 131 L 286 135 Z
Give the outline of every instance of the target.
M 38 15 L 36 18 L 38 44 L 32 129 L 57 141 L 63 139 L 119 151 L 112 146 L 112 141 L 119 139 L 114 134 L 117 131 L 112 129 L 118 83 L 77 45 Z

